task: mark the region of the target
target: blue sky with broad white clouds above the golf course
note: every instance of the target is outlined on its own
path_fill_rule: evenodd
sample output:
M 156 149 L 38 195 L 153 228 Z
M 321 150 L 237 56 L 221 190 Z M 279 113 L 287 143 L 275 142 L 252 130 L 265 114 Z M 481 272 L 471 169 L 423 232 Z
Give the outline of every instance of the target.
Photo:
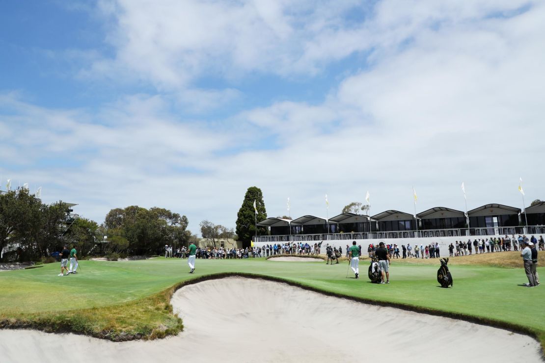
M 545 200 L 545 3 L 0 3 L 2 190 L 269 217 Z M 416 206 L 413 187 L 417 194 Z M 325 195 L 329 209 L 326 209 Z

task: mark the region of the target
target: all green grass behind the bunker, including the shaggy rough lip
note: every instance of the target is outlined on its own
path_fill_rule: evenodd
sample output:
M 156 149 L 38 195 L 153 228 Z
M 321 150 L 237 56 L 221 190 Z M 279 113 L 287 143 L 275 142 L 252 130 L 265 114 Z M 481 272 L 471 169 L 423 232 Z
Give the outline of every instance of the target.
M 391 266 L 390 285 L 369 282 L 367 261 L 360 261 L 358 280 L 352 271 L 346 278 L 344 261 L 326 266 L 324 262 L 264 259 L 197 260 L 195 274 L 187 273 L 187 260 L 179 259 L 81 261 L 81 266 L 77 275 L 62 277 L 57 276 L 58 263 L 0 273 L 3 326 L 26 322 L 21 325 L 120 340 L 176 334 L 181 322 L 168 303 L 175 286 L 203 275 L 249 273 L 354 298 L 517 324 L 545 341 L 545 310 L 541 309 L 545 287 L 519 286 L 526 281 L 522 268 L 457 266 L 451 260 L 454 286 L 445 289 L 436 280 L 439 266 L 398 260 Z M 538 271 L 545 276 L 545 268 Z

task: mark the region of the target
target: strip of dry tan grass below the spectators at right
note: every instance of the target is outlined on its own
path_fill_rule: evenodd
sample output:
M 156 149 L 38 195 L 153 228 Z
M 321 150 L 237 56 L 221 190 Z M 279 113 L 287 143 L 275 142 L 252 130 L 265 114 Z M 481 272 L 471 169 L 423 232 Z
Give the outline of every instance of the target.
M 448 254 L 446 254 L 448 256 Z M 445 255 L 441 255 L 445 257 Z M 393 259 L 402 263 L 431 264 L 439 265 L 439 259 Z M 485 254 L 471 254 L 467 256 L 450 257 L 450 265 L 477 265 L 492 267 L 520 268 L 522 267 L 522 257 L 518 251 L 494 252 Z M 538 254 L 538 266 L 545 266 L 545 253 Z

